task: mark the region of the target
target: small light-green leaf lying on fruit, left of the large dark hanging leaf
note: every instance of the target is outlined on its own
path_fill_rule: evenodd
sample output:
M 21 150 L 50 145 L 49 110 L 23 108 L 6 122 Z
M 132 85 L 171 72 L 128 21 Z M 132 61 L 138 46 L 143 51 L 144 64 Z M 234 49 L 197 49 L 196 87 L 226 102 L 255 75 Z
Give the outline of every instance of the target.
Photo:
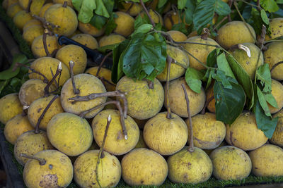
M 195 68 L 188 67 L 185 73 L 185 80 L 187 82 L 187 85 L 192 89 L 192 91 L 200 94 L 202 91 L 202 77 L 204 75 Z

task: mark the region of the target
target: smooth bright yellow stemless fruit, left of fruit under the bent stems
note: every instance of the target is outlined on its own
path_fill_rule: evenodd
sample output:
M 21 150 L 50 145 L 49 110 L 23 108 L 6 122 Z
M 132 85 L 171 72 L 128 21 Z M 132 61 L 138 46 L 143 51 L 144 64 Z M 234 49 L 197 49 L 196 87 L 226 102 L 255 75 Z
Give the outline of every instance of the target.
M 87 120 L 72 113 L 54 115 L 47 125 L 47 135 L 51 144 L 68 156 L 79 156 L 93 142 Z

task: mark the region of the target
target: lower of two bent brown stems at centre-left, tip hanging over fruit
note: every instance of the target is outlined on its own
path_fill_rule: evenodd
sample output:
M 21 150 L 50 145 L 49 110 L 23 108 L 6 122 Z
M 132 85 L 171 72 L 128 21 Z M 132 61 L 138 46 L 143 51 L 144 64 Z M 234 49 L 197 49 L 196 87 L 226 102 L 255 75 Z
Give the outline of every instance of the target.
M 100 104 L 98 106 L 95 106 L 91 109 L 88 109 L 87 111 L 82 111 L 79 116 L 81 118 L 83 118 L 87 113 L 90 113 L 91 111 L 93 110 L 96 110 L 97 108 L 101 108 L 103 106 L 106 106 L 108 104 L 115 104 L 116 107 L 118 108 L 119 110 L 119 113 L 120 113 L 120 123 L 122 125 L 122 131 L 123 131 L 123 134 L 124 134 L 124 137 L 125 139 L 128 139 L 128 136 L 127 136 L 127 129 L 126 129 L 126 125 L 125 125 L 125 118 L 124 118 L 124 115 L 123 115 L 123 111 L 122 111 L 122 107 L 121 107 L 121 104 L 120 104 L 120 101 L 108 101 L 108 102 L 105 102 L 103 104 Z

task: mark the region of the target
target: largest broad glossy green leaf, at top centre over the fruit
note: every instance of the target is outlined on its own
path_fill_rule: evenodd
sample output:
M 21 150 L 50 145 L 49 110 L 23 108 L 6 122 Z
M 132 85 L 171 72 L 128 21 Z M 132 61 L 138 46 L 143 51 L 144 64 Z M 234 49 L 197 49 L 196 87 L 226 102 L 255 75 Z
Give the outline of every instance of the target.
M 120 61 L 127 77 L 153 81 L 166 65 L 166 40 L 160 33 L 132 36 Z

